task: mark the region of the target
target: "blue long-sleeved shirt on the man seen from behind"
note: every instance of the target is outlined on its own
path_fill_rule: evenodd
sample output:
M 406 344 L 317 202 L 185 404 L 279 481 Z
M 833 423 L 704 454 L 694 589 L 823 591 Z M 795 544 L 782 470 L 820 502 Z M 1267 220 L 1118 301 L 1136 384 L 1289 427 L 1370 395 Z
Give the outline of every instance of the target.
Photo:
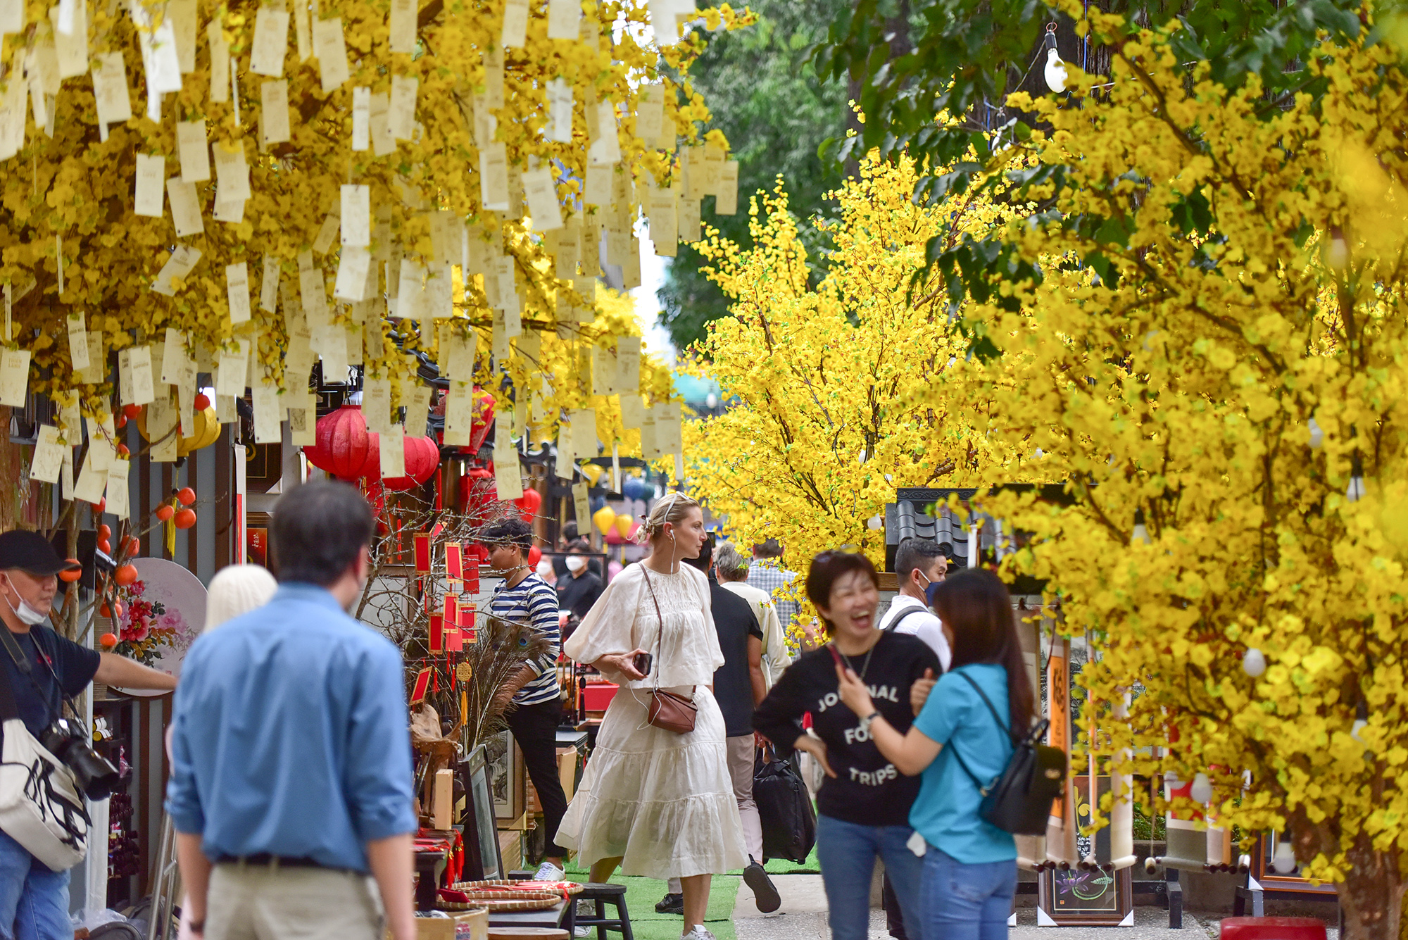
M 206 633 L 176 690 L 176 830 L 208 858 L 367 871 L 367 841 L 417 830 L 404 682 L 400 650 L 313 584 Z

